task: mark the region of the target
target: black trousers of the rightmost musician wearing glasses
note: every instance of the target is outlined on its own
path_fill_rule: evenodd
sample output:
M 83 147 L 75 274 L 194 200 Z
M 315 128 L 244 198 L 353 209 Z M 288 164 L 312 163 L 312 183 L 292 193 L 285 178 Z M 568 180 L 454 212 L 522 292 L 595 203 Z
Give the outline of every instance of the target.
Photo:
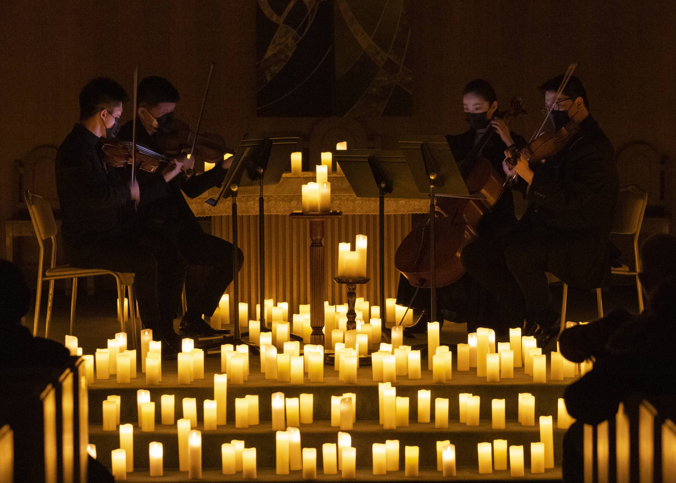
M 505 306 L 510 318 L 550 321 L 556 314 L 545 273 L 555 266 L 551 237 L 531 227 L 479 237 L 462 249 L 462 265 Z

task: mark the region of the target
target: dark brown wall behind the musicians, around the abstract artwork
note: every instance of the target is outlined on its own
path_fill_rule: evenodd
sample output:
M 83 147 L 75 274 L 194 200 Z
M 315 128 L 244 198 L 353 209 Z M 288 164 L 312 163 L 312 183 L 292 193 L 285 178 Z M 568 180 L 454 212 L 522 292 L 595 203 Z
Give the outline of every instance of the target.
M 644 139 L 676 155 L 673 1 L 410 5 L 414 116 L 360 119 L 369 134 L 464 130 L 459 92 L 475 77 L 489 79 L 503 101 L 521 95 L 535 113 L 542 103 L 535 87 L 577 62 L 592 113 L 615 145 Z M 0 223 L 16 206 L 13 161 L 60 143 L 78 117 L 78 91 L 93 76 L 112 76 L 129 91 L 134 66 L 141 76 L 166 76 L 183 98 L 177 114 L 194 122 L 214 60 L 203 125 L 233 146 L 245 131 L 309 133 L 319 121 L 256 118 L 254 0 L 13 1 L 0 22 Z M 528 137 L 538 118 L 513 127 Z

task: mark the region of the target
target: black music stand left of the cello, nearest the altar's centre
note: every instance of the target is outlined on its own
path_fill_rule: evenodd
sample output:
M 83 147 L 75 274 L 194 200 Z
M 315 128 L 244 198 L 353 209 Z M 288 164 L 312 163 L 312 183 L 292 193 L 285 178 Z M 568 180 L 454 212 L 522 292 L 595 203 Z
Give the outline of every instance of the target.
M 390 198 L 427 198 L 418 187 L 400 150 L 346 149 L 333 152 L 345 178 L 359 198 L 379 198 L 379 304 L 385 313 L 385 195 Z M 374 183 L 375 181 L 375 183 Z

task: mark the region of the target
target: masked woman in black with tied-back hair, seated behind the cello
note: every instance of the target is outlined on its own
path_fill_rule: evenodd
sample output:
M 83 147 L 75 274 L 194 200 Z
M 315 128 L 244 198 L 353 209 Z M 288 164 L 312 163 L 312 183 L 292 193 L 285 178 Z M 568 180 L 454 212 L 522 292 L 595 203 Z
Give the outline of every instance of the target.
M 458 160 L 461 175 L 466 177 L 472 170 L 475 160 L 467 160 L 468 154 L 479 143 L 489 126 L 493 126 L 496 131 L 489 137 L 481 150 L 481 155 L 493 164 L 493 169 L 502 172 L 504 150 L 512 145 L 523 147 L 525 140 L 510 131 L 507 123 L 495 115 L 498 110 L 496 91 L 486 80 L 472 80 L 462 91 L 462 107 L 464 119 L 469 124 L 468 129 L 459 135 L 446 136 L 451 152 Z M 481 219 L 479 233 L 484 235 L 504 233 L 515 223 L 514 201 L 512 193 L 507 190 L 491 212 Z M 397 290 L 397 304 L 408 306 L 415 290 L 416 288 L 402 275 Z M 429 289 L 420 288 L 414 297 L 412 307 L 429 310 L 429 298 Z M 437 288 L 437 306 L 441 313 L 439 320 L 467 323 L 470 332 L 485 324 L 490 324 L 491 327 L 502 325 L 507 329 L 509 327 L 509 323 L 504 321 L 500 304 L 497 304 L 491 294 L 467 274 L 450 285 Z M 405 333 L 409 335 L 426 331 L 427 322 L 430 320 L 429 311 L 423 311 L 418 322 L 412 327 L 406 327 Z

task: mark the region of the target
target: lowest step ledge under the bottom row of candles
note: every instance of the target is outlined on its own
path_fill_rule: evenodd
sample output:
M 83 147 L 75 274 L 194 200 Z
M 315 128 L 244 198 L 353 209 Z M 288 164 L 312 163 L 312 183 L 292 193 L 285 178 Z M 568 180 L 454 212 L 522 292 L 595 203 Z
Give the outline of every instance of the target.
M 258 455 L 257 455 L 258 456 Z M 261 468 L 257 470 L 257 478 L 255 481 L 260 482 L 297 482 L 301 480 L 302 473 L 300 471 L 291 472 L 288 475 L 276 475 L 272 468 Z M 220 469 L 203 469 L 203 482 L 223 482 L 223 481 L 241 481 L 241 473 L 236 475 L 226 476 L 221 474 Z M 350 481 L 350 482 L 388 482 L 388 481 L 419 481 L 419 482 L 433 482 L 433 481 L 448 481 L 453 482 L 514 482 L 514 481 L 538 481 L 538 482 L 560 482 L 561 481 L 561 467 L 554 467 L 548 469 L 544 474 L 531 474 L 530 467 L 526 467 L 525 475 L 519 478 L 510 477 L 509 470 L 496 472 L 491 474 L 479 474 L 476 467 L 458 466 L 456 476 L 445 477 L 441 472 L 437 472 L 433 468 L 420 467 L 418 476 L 415 478 L 407 478 L 404 476 L 403 464 L 402 470 L 398 472 L 387 472 L 387 475 L 375 476 L 372 468 L 358 467 L 357 478 L 354 480 L 343 480 L 340 472 L 337 475 L 322 474 L 321 463 L 318 463 L 318 472 L 316 481 Z M 187 472 L 178 472 L 176 469 L 167 469 L 162 477 L 150 477 L 147 470 L 136 470 L 133 473 L 127 474 L 126 481 L 130 483 L 150 483 L 150 482 L 167 482 L 167 483 L 193 483 L 195 480 L 188 479 Z M 245 480 L 246 481 L 246 480 Z

